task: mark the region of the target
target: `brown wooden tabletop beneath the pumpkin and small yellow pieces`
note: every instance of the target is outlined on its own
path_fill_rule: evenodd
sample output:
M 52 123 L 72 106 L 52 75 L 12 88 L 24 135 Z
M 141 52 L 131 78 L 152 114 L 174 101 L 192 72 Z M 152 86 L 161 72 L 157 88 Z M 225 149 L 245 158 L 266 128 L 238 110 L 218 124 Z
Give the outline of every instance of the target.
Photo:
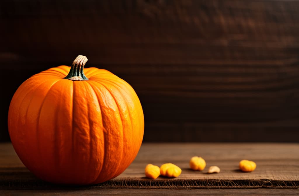
M 192 156 L 205 159 L 207 166 L 202 172 L 189 169 Z M 242 159 L 253 160 L 257 164 L 256 170 L 241 172 L 239 161 Z M 158 166 L 174 163 L 182 169 L 182 173 L 177 178 L 158 177 L 150 180 L 144 175 L 148 163 Z M 221 169 L 220 173 L 207 174 L 208 168 L 213 165 Z M 199 189 L 201 194 L 213 192 L 220 195 L 238 194 L 234 189 L 243 189 L 242 192 L 248 195 L 255 192 L 270 194 L 271 190 L 271 194 L 280 191 L 290 195 L 298 194 L 299 144 L 144 143 L 134 162 L 121 175 L 102 184 L 80 187 L 54 185 L 39 180 L 25 168 L 10 143 L 0 144 L 0 193 L 11 194 L 20 190 L 23 195 L 32 194 L 31 190 L 39 190 L 44 195 L 54 190 L 60 193 L 68 190 L 72 192 L 71 195 L 95 192 L 106 195 L 155 195 L 159 191 L 164 195 L 174 193 L 165 189 L 176 190 L 181 194 L 186 190 L 189 194 L 198 194 Z

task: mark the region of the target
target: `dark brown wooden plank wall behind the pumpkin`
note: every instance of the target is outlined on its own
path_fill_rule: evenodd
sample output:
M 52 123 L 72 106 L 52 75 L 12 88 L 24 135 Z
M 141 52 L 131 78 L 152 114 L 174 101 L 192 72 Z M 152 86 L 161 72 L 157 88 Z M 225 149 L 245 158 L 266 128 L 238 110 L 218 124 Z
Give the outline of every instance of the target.
M 299 142 L 299 2 L 1 1 L 1 131 L 31 75 L 104 68 L 135 89 L 145 142 Z

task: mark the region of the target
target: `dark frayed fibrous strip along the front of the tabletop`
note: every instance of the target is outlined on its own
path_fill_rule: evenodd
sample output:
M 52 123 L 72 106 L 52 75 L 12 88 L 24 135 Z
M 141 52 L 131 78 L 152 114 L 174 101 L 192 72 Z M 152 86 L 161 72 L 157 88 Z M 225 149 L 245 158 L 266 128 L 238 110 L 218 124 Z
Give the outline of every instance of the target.
M 290 188 L 299 189 L 299 181 L 289 180 L 149 180 L 121 179 L 89 186 L 65 186 L 47 183 L 41 180 L 1 181 L 0 189 L 259 189 L 259 188 Z

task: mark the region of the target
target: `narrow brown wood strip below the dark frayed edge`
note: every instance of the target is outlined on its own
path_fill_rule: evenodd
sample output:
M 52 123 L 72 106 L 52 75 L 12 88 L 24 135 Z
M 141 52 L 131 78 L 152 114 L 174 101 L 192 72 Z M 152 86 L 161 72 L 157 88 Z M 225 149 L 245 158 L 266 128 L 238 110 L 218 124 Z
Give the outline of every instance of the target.
M 0 190 L 1 195 L 9 196 L 94 196 L 94 195 L 298 195 L 299 189 L 93 189 L 93 190 Z

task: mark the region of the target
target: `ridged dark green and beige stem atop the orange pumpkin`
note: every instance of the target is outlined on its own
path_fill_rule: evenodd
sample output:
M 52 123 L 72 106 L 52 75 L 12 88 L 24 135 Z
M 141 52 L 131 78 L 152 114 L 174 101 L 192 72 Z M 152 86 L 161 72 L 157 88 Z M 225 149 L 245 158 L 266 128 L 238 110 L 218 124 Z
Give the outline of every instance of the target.
M 83 72 L 83 68 L 87 60 L 88 59 L 86 58 L 86 56 L 82 56 L 82 55 L 77 56 L 77 58 L 73 61 L 70 72 L 68 73 L 67 76 L 65 76 L 64 79 L 70 79 L 73 81 L 88 80 L 88 78 L 86 78 Z

